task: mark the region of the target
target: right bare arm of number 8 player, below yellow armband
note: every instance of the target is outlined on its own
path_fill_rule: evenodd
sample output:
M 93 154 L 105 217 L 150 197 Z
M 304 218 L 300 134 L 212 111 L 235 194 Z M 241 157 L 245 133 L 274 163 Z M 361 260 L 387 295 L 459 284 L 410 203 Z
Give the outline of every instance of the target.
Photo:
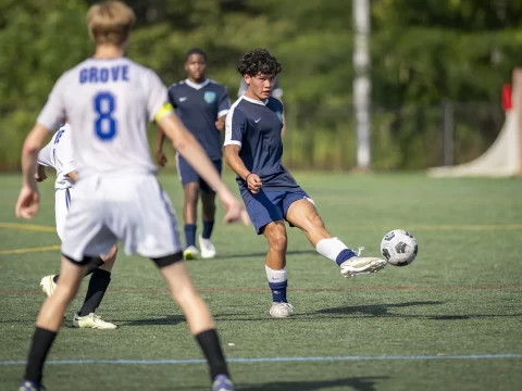
M 250 219 L 239 200 L 237 200 L 221 180 L 214 165 L 204 153 L 196 138 L 183 126 L 175 114 L 167 114 L 157 119 L 166 137 L 172 140 L 174 149 L 187 160 L 198 174 L 214 189 L 226 210 L 226 223 L 243 219 L 248 225 Z

